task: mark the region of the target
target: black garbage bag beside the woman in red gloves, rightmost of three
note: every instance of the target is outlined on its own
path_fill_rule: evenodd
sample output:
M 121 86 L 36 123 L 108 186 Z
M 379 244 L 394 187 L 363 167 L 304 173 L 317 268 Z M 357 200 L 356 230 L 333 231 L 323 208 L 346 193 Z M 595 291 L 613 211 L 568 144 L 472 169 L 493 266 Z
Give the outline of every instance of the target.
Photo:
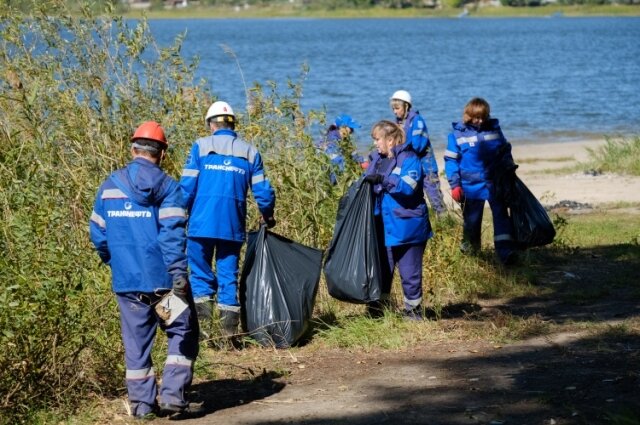
M 514 239 L 522 249 L 544 246 L 553 242 L 556 230 L 553 222 L 529 188 L 516 176 L 507 195 Z

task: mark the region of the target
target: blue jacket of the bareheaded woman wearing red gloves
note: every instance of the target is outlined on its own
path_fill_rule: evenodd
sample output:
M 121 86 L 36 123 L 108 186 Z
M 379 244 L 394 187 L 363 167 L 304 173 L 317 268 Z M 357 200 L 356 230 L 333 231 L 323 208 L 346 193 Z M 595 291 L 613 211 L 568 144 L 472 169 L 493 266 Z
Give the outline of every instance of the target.
M 452 123 L 444 169 L 451 188 L 462 187 L 469 199 L 492 199 L 494 173 L 513 166 L 511 144 L 507 142 L 497 119 L 490 119 L 481 128 L 470 124 Z

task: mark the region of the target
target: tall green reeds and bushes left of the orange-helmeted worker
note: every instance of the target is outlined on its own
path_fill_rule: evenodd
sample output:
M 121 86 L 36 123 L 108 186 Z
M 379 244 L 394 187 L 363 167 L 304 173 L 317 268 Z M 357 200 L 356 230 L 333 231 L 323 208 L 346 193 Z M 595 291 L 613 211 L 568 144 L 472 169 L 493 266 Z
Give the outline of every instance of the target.
M 27 2 L 25 2 L 27 3 Z M 3 6 L 0 86 L 0 400 L 7 422 L 122 387 L 110 273 L 88 240 L 100 182 L 156 119 L 174 147 L 201 129 L 206 93 L 180 40 L 157 49 L 144 21 L 72 18 L 61 1 Z M 107 11 L 108 12 L 108 11 Z M 175 174 L 180 162 L 168 161 Z M 11 419 L 13 418 L 13 419 Z M 0 420 L 1 422 L 1 420 Z

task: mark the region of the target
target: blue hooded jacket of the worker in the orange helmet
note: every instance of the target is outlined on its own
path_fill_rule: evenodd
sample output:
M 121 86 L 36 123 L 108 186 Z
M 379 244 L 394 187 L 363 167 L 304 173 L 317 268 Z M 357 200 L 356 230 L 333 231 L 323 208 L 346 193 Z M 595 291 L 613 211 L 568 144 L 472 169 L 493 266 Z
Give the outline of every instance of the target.
M 137 157 L 107 178 L 96 195 L 89 233 L 111 267 L 113 291 L 170 289 L 187 274 L 187 223 L 178 183 Z

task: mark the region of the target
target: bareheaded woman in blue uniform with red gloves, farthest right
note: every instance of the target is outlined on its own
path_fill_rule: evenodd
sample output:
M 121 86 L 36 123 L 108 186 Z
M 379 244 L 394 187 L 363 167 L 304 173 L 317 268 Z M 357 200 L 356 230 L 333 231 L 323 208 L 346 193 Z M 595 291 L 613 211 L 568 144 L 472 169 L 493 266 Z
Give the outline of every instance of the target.
M 463 236 L 461 250 L 480 250 L 482 215 L 485 201 L 493 216 L 493 241 L 500 261 L 516 261 L 513 225 L 507 206 L 496 196 L 495 179 L 499 172 L 515 169 L 511 144 L 502 134 L 497 119 L 491 118 L 489 103 L 471 99 L 461 122 L 452 123 L 444 155 L 445 173 L 451 197 L 462 207 Z

